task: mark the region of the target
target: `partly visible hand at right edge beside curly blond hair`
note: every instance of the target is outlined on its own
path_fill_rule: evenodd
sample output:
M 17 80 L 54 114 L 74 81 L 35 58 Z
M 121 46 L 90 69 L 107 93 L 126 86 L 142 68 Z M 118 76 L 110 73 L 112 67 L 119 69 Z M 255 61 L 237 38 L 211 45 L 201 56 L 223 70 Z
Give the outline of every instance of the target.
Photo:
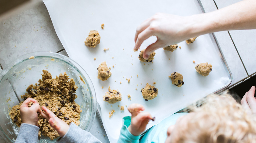
M 245 109 L 250 109 L 253 114 L 256 113 L 256 98 L 254 97 L 255 87 L 252 86 L 249 91 L 247 91 L 241 100 L 241 104 Z

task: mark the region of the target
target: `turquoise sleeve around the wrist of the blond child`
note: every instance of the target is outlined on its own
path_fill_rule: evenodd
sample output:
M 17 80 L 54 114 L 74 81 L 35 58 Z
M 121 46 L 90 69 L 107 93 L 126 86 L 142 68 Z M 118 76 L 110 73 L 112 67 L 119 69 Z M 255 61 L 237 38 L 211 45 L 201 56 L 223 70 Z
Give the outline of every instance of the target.
M 120 136 L 118 138 L 118 143 L 139 143 L 139 136 L 134 136 L 128 130 L 131 124 L 131 116 L 126 116 L 123 119 L 123 126 L 121 128 Z

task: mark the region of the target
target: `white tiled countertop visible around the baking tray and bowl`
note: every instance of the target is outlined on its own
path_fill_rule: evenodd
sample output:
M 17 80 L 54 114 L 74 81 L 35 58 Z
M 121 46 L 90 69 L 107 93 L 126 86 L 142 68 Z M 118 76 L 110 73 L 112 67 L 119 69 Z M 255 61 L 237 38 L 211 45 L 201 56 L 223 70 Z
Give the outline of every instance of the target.
M 239 1 L 201 0 L 205 12 Z M 233 75 L 227 89 L 255 75 L 256 66 L 253 61 L 256 61 L 256 30 L 222 31 L 215 35 Z M 0 21 L 0 41 L 0 72 L 16 57 L 31 52 L 48 51 L 68 56 L 43 2 Z M 103 143 L 109 142 L 97 115 L 90 133 Z

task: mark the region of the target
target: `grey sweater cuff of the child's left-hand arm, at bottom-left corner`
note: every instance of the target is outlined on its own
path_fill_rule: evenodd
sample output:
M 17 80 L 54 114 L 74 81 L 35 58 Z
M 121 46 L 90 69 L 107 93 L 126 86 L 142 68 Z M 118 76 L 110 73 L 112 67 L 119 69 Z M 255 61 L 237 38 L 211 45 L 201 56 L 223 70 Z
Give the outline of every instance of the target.
M 37 143 L 39 127 L 22 123 L 15 143 Z

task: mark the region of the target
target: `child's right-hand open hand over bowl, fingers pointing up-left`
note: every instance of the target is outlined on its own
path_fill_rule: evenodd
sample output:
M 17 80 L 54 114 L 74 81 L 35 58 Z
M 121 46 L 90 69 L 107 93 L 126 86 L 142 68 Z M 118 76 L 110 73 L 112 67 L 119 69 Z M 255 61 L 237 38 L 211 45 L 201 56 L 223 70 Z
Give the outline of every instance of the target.
M 61 137 L 63 137 L 68 132 L 69 125 L 62 119 L 59 119 L 51 110 L 45 106 L 42 106 L 42 109 L 45 113 L 41 112 L 41 115 L 47 119 L 51 127 L 53 127 L 53 129 L 56 130 Z

